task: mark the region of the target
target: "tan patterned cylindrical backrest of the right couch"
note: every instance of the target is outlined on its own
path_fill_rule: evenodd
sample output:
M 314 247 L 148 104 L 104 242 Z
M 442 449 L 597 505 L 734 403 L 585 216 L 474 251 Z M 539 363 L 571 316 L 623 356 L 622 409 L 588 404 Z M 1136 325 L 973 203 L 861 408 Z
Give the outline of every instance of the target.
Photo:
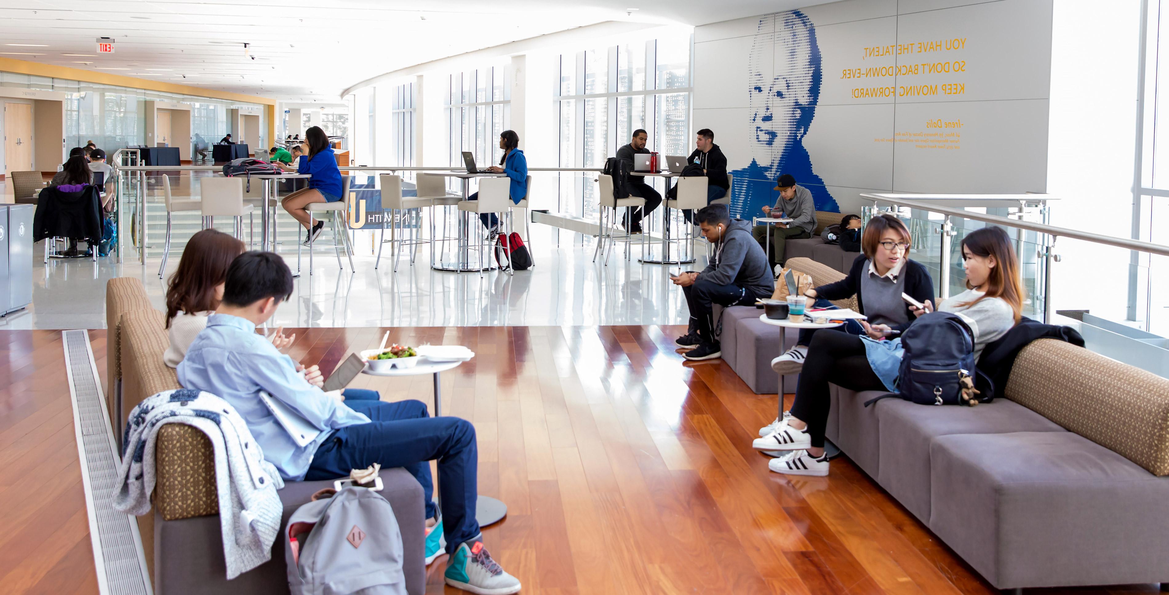
M 1004 394 L 1153 475 L 1169 475 L 1169 379 L 1039 339 L 1019 352 Z

